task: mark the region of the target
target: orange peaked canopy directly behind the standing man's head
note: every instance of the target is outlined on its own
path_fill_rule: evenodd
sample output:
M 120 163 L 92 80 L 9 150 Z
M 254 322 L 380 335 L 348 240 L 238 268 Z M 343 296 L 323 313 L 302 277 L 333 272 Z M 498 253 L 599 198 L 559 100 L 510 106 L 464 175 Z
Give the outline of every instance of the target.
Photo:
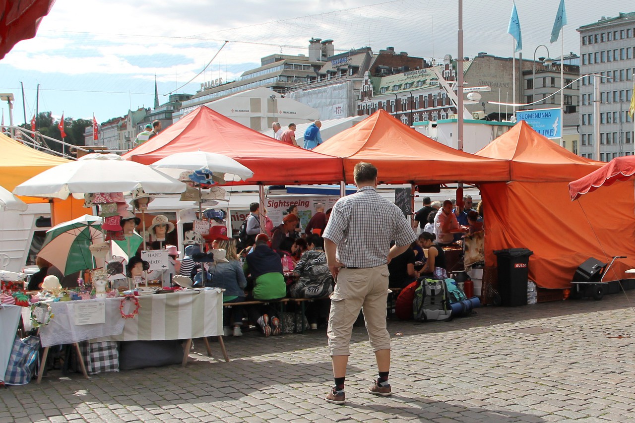
M 509 163 L 455 150 L 425 137 L 388 112 L 373 113 L 313 151 L 344 158 L 346 180 L 359 161 L 375 164 L 382 183 L 509 180 Z

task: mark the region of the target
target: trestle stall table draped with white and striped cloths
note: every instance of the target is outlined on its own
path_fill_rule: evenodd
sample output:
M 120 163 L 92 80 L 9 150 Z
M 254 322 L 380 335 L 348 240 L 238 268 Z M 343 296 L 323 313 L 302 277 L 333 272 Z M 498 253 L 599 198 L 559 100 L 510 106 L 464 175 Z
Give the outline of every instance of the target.
M 74 344 L 83 340 L 175 340 L 185 339 L 183 365 L 187 363 L 192 339 L 203 338 L 208 354 L 211 350 L 206 337 L 217 336 L 225 361 L 229 361 L 222 340 L 222 302 L 220 289 L 182 290 L 174 293 L 156 293 L 135 297 L 139 303 L 138 314 L 124 319 L 120 311 L 124 297 L 78 300 L 51 303 L 54 318 L 40 331 L 45 363 L 48 348 L 57 344 Z M 126 301 L 124 302 L 131 302 Z M 136 305 L 136 304 L 135 304 Z M 132 307 L 134 308 L 134 307 Z M 95 321 L 96 323 L 91 323 Z M 98 322 L 98 323 L 97 323 Z M 81 354 L 80 365 L 85 377 Z M 42 372 L 37 382 L 42 379 Z

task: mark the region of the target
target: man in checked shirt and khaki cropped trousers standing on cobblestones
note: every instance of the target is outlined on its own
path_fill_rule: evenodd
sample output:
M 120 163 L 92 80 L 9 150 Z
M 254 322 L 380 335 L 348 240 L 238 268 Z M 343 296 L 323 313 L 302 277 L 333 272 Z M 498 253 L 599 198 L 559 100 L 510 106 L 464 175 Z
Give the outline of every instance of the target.
M 324 250 L 335 280 L 328 319 L 328 348 L 335 386 L 326 401 L 344 404 L 344 380 L 353 323 L 364 312 L 370 345 L 375 351 L 378 379 L 368 392 L 390 396 L 391 337 L 386 329 L 388 263 L 408 249 L 416 237 L 408 221 L 377 193 L 377 168 L 360 162 L 353 170 L 358 192 L 340 198 L 324 229 Z M 381 223 L 378 223 L 381 222 Z M 391 240 L 395 241 L 392 248 Z

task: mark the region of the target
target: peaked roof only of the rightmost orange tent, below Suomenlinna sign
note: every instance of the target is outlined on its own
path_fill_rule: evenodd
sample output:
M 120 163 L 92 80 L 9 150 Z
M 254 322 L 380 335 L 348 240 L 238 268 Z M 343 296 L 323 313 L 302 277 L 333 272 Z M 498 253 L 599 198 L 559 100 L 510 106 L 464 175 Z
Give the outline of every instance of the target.
M 603 163 L 585 159 L 545 138 L 525 121 L 493 140 L 477 156 L 510 160 L 511 180 L 570 182 Z

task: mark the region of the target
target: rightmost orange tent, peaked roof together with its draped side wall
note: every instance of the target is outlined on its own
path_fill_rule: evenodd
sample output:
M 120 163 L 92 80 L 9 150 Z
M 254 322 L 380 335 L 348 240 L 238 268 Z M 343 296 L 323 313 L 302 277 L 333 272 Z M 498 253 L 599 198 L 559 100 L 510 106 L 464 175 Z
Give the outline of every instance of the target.
M 528 248 L 529 278 L 552 289 L 570 288 L 575 269 L 590 257 L 629 257 L 613 265 L 606 281 L 635 267 L 632 186 L 615 184 L 574 202 L 569 196 L 570 181 L 603 163 L 576 156 L 524 121 L 476 154 L 508 159 L 512 175 L 507 184 L 479 185 L 486 266 L 497 263 L 493 250 Z

